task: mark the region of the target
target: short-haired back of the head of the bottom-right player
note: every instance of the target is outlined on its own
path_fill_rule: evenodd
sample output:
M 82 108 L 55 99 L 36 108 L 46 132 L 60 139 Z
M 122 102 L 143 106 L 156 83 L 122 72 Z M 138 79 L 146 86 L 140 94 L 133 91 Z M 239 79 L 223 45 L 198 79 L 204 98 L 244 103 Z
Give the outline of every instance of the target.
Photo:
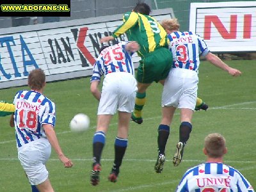
M 205 137 L 204 148 L 209 157 L 221 157 L 225 154 L 226 140 L 219 133 L 212 133 Z

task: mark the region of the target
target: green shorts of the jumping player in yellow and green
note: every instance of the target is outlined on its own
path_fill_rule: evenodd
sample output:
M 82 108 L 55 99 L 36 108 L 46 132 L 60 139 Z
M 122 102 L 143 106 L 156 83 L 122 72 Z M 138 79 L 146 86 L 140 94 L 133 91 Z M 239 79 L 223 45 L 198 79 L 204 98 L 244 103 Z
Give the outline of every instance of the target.
M 136 79 L 139 83 L 157 83 L 166 79 L 172 67 L 172 52 L 165 47 L 141 57 Z

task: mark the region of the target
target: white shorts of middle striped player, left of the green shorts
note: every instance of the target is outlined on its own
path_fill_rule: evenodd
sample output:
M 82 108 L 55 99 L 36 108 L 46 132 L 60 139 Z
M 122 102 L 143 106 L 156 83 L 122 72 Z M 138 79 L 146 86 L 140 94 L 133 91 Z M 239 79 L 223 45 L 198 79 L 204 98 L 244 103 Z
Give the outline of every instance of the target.
M 113 72 L 103 81 L 98 115 L 114 115 L 116 110 L 132 113 L 135 104 L 137 82 L 132 74 Z

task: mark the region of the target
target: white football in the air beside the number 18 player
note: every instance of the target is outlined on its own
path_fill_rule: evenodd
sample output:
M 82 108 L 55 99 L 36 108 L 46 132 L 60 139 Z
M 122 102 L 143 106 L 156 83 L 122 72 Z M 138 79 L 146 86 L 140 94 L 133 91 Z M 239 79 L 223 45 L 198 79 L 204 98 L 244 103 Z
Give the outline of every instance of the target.
M 83 113 L 79 113 L 72 118 L 69 127 L 74 132 L 86 131 L 90 127 L 90 118 Z

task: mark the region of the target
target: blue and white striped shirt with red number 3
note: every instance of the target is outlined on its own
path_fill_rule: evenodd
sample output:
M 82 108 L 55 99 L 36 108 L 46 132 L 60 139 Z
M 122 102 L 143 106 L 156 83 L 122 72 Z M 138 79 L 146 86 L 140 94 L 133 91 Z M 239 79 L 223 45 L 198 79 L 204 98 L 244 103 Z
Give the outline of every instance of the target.
M 169 49 L 173 54 L 173 68 L 187 68 L 198 72 L 199 57 L 205 56 L 209 49 L 204 40 L 191 31 L 176 31 L 168 35 Z

